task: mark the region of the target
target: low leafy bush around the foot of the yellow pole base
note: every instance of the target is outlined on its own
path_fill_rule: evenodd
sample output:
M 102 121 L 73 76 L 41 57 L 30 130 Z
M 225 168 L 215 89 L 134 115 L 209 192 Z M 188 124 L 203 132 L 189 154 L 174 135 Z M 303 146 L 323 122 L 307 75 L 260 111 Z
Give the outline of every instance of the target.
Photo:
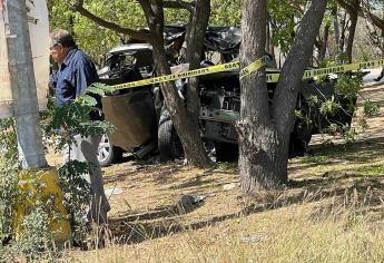
M 28 203 L 36 196 L 29 191 L 20 192 L 17 162 L 1 157 L 0 173 L 0 262 L 16 262 L 17 257 L 32 261 L 51 254 L 55 251 L 53 233 L 49 232 L 50 215 L 53 214 L 52 198 L 36 199 L 35 206 L 26 210 L 20 222 L 23 232 L 14 240 L 13 225 L 20 216 L 17 206 L 20 206 L 20 199 Z M 28 179 L 28 184 L 38 192 L 45 187 L 33 179 Z

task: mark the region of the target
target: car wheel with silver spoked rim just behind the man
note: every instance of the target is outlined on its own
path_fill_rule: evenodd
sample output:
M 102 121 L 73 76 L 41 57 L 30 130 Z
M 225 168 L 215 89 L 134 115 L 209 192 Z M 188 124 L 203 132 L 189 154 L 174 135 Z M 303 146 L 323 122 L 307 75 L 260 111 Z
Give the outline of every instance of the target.
M 121 160 L 122 149 L 111 144 L 108 135 L 102 135 L 97 150 L 97 159 L 101 167 L 107 167 Z

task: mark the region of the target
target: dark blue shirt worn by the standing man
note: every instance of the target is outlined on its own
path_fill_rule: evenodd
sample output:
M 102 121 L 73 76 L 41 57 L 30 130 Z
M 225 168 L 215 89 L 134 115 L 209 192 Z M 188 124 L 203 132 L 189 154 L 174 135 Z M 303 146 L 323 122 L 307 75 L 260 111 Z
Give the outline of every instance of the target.
M 96 67 L 87 53 L 73 48 L 56 75 L 56 101 L 63 106 L 99 80 Z

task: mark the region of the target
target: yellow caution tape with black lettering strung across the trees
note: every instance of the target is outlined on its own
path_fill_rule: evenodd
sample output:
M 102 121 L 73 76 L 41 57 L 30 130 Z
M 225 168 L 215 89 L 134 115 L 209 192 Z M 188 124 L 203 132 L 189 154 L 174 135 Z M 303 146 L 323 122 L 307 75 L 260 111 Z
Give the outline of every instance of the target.
M 242 79 L 242 78 L 248 76 L 249 74 L 262 68 L 265 65 L 264 59 L 265 59 L 265 57 L 257 59 L 255 62 L 253 62 L 249 66 L 247 66 L 246 68 L 242 69 L 239 71 L 239 78 Z M 346 71 L 351 71 L 351 70 L 376 68 L 380 66 L 384 66 L 384 59 L 377 59 L 377 60 L 371 60 L 371 61 L 357 62 L 357 64 L 346 64 L 346 65 L 328 67 L 328 68 L 311 69 L 311 70 L 304 71 L 303 79 L 322 77 L 322 76 L 326 76 L 329 74 L 346 72 Z M 220 64 L 220 65 L 216 65 L 216 66 L 211 66 L 211 67 L 207 67 L 207 68 L 199 68 L 199 69 L 184 71 L 184 72 L 165 75 L 161 77 L 155 77 L 155 78 L 141 79 L 141 80 L 127 82 L 127 84 L 115 85 L 112 87 L 115 89 L 127 89 L 127 88 L 145 86 L 145 85 L 161 84 L 161 82 L 173 81 L 173 80 L 183 79 L 183 78 L 191 78 L 191 77 L 197 77 L 197 76 L 205 76 L 205 75 L 210 75 L 210 74 L 216 74 L 216 72 L 223 72 L 223 71 L 227 71 L 227 70 L 234 70 L 234 69 L 236 70 L 236 69 L 239 69 L 239 67 L 240 67 L 240 65 L 238 61 L 229 62 L 229 64 Z M 278 72 L 267 74 L 266 75 L 267 82 L 278 82 L 279 76 L 280 75 Z

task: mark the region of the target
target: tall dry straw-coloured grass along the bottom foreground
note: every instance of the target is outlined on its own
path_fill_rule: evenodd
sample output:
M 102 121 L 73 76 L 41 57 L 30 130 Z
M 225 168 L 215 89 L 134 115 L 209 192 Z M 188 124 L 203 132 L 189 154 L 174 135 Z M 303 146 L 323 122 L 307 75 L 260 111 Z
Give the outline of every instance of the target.
M 161 238 L 148 236 L 138 244 L 71 253 L 69 261 L 383 262 L 382 222 L 363 203 L 346 198 L 344 205 L 336 205 L 338 202 L 308 199 L 199 230 L 169 232 Z

